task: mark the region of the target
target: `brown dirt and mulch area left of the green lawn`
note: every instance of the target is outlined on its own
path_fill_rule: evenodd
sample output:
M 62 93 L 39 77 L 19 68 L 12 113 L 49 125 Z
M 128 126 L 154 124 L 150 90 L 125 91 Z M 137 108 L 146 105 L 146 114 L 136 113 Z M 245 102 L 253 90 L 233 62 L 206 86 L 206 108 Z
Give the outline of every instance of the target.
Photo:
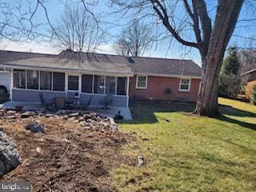
M 33 191 L 113 191 L 109 173 L 128 161 L 121 153 L 127 135 L 88 130 L 58 116 L 38 117 L 46 134 L 33 134 L 24 127 L 34 120 L 0 120 L 22 157 L 22 165 L 2 180 L 29 181 Z

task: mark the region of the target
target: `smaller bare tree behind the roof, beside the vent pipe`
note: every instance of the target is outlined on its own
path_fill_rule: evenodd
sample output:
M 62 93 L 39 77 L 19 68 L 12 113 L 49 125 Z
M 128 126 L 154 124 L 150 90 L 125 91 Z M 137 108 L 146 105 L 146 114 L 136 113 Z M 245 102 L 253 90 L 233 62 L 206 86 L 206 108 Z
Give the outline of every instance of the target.
M 153 42 L 151 28 L 136 21 L 122 30 L 114 48 L 118 54 L 126 55 L 129 51 L 132 56 L 139 57 L 150 50 Z

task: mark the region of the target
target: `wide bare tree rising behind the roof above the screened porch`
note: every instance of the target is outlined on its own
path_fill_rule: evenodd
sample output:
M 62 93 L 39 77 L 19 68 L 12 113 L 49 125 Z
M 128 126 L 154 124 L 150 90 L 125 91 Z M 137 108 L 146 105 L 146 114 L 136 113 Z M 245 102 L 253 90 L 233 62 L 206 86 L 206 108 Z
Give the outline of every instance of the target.
M 104 41 L 98 23 L 90 13 L 78 6 L 66 6 L 58 25 L 54 26 L 53 37 L 57 46 L 79 52 L 94 52 Z

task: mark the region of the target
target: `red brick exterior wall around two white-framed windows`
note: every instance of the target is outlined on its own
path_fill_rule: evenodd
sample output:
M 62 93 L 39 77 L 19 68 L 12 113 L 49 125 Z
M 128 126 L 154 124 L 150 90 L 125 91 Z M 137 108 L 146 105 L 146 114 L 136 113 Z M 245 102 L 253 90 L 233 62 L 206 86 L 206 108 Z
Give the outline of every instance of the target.
M 191 79 L 190 91 L 179 91 L 180 78 L 148 76 L 147 89 L 136 89 L 137 76 L 130 78 L 129 96 L 130 98 L 162 99 L 170 101 L 196 102 L 200 79 Z M 166 89 L 170 88 L 171 94 L 166 94 Z

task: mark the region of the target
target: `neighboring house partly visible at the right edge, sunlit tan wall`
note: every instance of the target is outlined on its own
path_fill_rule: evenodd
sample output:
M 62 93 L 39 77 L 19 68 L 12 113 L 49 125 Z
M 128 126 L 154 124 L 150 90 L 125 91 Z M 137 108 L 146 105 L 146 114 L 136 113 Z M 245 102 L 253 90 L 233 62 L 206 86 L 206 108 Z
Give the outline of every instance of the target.
M 246 82 L 246 99 L 250 99 L 254 92 L 253 87 L 256 86 L 256 69 L 243 73 L 242 78 Z

